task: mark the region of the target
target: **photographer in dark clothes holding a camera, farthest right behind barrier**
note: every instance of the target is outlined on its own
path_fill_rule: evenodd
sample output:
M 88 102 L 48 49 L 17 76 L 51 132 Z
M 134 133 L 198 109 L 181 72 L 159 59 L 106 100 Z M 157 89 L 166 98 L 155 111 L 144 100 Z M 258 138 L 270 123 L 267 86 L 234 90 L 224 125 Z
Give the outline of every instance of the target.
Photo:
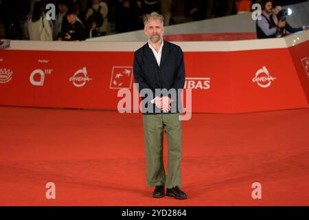
M 287 15 L 288 15 L 288 10 L 282 10 L 282 7 L 280 5 L 276 5 L 275 8 L 273 8 L 273 14 L 271 16 L 271 23 L 273 25 L 277 25 L 279 21 L 286 21 Z M 302 30 L 306 30 L 306 25 L 304 25 L 301 28 L 293 28 L 286 21 L 286 26 L 284 28 L 279 28 L 275 36 L 282 37 L 282 36 L 286 36 L 286 32 L 293 34 L 295 32 L 300 32 Z

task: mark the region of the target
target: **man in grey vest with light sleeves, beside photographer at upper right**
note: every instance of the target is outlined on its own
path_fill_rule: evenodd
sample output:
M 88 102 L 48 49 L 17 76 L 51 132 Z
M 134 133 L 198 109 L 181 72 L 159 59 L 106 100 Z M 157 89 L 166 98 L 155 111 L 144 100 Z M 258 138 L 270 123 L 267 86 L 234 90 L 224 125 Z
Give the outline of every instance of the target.
M 278 21 L 277 25 L 271 22 L 271 14 L 273 9 L 273 1 L 262 2 L 262 14 L 256 21 L 256 33 L 258 39 L 274 38 L 280 28 L 284 28 L 286 21 Z

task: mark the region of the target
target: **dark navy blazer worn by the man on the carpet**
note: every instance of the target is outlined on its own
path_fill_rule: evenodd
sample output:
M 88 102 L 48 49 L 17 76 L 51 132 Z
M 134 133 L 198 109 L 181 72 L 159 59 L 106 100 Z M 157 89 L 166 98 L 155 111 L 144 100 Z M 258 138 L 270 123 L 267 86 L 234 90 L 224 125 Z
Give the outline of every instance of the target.
M 181 47 L 170 43 L 168 41 L 163 42 L 162 56 L 160 66 L 157 63 L 155 55 L 150 49 L 148 43 L 139 48 L 134 54 L 133 73 L 135 77 L 135 83 L 139 85 L 139 92 L 141 89 L 151 89 L 152 97 L 156 96 L 169 96 L 165 92 L 161 94 L 155 94 L 155 89 L 176 89 L 179 91 L 176 93 L 175 104 L 177 106 L 176 112 L 182 111 L 181 91 L 185 85 L 185 65 L 183 62 L 183 52 Z M 142 100 L 146 97 L 141 97 Z M 177 104 L 179 102 L 179 104 Z M 155 114 L 158 112 L 155 104 L 151 102 L 146 103 L 153 106 L 152 113 L 143 110 L 143 114 Z M 157 111 L 155 111 L 157 109 Z M 159 111 L 162 113 L 162 111 Z M 169 112 L 173 113 L 173 112 Z M 174 112 L 175 113 L 175 112 Z

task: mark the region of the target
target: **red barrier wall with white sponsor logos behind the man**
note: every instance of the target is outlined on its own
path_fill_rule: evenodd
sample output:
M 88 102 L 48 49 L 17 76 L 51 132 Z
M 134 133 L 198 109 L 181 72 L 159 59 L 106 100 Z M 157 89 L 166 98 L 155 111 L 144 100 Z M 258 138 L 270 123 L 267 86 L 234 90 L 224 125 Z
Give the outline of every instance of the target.
M 308 107 L 309 41 L 264 50 L 183 48 L 193 112 Z M 132 65 L 133 51 L 1 50 L 0 104 L 117 109 L 119 88 L 133 91 Z

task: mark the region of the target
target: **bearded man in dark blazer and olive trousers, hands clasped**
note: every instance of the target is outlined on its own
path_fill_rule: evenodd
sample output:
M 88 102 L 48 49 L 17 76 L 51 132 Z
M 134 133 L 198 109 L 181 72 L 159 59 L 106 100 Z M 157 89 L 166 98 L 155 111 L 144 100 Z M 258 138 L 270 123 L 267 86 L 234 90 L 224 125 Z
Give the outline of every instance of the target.
M 155 187 L 155 198 L 165 195 L 187 199 L 181 187 L 182 111 L 181 91 L 185 65 L 181 47 L 163 40 L 163 16 L 152 12 L 144 17 L 148 42 L 134 54 L 133 71 L 143 100 L 146 179 Z M 163 165 L 163 131 L 168 139 L 168 172 Z

